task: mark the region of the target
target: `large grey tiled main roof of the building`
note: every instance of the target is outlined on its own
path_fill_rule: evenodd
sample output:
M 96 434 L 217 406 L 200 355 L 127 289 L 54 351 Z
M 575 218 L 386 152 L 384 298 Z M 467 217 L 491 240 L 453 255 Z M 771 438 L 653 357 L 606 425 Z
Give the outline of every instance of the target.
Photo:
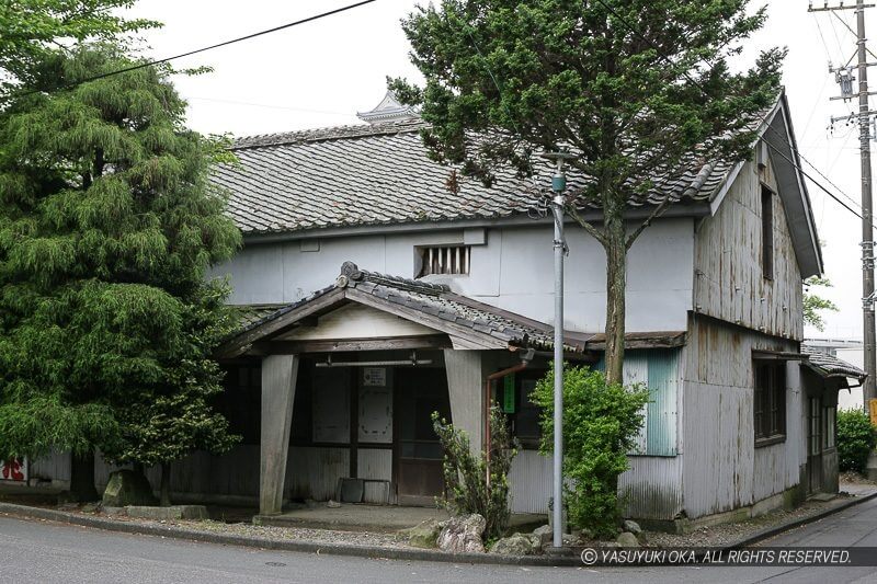
M 240 164 L 216 170 L 213 181 L 228 190 L 229 211 L 246 233 L 277 233 L 327 227 L 496 219 L 525 214 L 547 193 L 547 161 L 534 182 L 498 173 L 487 188 L 430 160 L 419 121 L 341 126 L 253 136 L 232 146 Z M 629 204 L 711 201 L 733 165 L 693 159 L 674 179 L 656 180 Z M 570 192 L 584 184 L 569 175 Z

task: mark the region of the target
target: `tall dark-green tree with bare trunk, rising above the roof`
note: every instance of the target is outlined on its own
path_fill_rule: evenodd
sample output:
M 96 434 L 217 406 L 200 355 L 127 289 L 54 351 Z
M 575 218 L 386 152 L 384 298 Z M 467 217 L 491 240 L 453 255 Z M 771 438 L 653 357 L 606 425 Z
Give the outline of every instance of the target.
M 568 193 L 567 211 L 606 250 L 612 381 L 622 380 L 626 253 L 641 231 L 625 226 L 627 201 L 704 160 L 749 158 L 752 122 L 779 92 L 784 50 L 743 72 L 728 65 L 766 18 L 748 4 L 442 0 L 402 22 L 425 85 L 389 85 L 421 106 L 435 160 L 490 183 L 502 167 L 546 174 L 534 153 L 568 148 L 591 179 Z M 602 208 L 602 226 L 579 215 L 586 207 Z

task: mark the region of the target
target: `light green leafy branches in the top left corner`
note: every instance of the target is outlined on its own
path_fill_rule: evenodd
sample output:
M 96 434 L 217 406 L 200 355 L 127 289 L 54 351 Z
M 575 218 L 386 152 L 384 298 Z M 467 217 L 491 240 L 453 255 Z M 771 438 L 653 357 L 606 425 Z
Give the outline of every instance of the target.
M 0 3 L 0 95 L 13 84 L 58 87 L 41 68 L 65 45 L 114 39 L 159 23 L 126 20 L 118 13 L 135 0 L 4 0 Z

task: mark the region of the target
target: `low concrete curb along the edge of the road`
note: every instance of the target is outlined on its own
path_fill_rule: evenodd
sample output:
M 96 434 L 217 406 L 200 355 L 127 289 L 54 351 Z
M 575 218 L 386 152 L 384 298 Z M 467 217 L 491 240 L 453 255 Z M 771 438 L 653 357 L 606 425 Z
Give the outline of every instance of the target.
M 850 501 L 825 509 L 810 517 L 802 517 L 787 522 L 782 525 L 768 527 L 761 531 L 722 546 L 725 550 L 752 546 L 759 541 L 771 538 L 775 535 L 795 529 L 802 525 L 818 522 L 830 515 L 847 509 L 854 505 L 865 503 L 877 497 L 877 492 Z M 542 566 L 582 566 L 581 559 L 577 556 L 568 557 L 546 557 L 546 556 L 500 556 L 496 553 L 446 553 L 437 550 L 419 550 L 405 548 L 383 548 L 379 546 L 357 546 L 353 543 L 321 543 L 317 541 L 300 540 L 277 540 L 260 537 L 249 537 L 227 534 L 210 534 L 196 529 L 186 529 L 176 526 L 145 525 L 141 523 L 127 523 L 103 517 L 91 517 L 78 513 L 69 513 L 42 507 L 30 507 L 26 505 L 15 505 L 13 503 L 0 502 L 0 514 L 13 515 L 16 517 L 27 517 L 33 519 L 44 519 L 57 523 L 78 525 L 81 527 L 92 527 L 106 531 L 118 531 L 123 534 L 148 535 L 164 538 L 183 539 L 198 541 L 203 543 L 216 543 L 223 546 L 241 546 L 247 548 L 259 548 L 276 551 L 298 551 L 305 553 L 324 553 L 331 556 L 350 556 L 355 558 L 380 558 L 388 560 L 409 560 L 445 563 L 470 563 L 470 564 L 492 564 L 492 565 L 542 565 Z

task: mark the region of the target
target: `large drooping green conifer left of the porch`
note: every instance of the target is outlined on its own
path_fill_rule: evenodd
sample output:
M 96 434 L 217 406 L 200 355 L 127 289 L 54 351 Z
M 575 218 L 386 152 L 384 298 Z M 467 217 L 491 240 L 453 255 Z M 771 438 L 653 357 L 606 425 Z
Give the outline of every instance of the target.
M 36 75 L 68 85 L 135 64 L 101 44 L 53 54 Z M 56 448 L 89 465 L 100 448 L 152 463 L 234 439 L 209 406 L 227 290 L 206 275 L 240 233 L 207 180 L 217 145 L 184 127 L 169 73 L 24 94 L 0 112 L 0 457 Z M 159 411 L 190 430 L 164 433 Z

